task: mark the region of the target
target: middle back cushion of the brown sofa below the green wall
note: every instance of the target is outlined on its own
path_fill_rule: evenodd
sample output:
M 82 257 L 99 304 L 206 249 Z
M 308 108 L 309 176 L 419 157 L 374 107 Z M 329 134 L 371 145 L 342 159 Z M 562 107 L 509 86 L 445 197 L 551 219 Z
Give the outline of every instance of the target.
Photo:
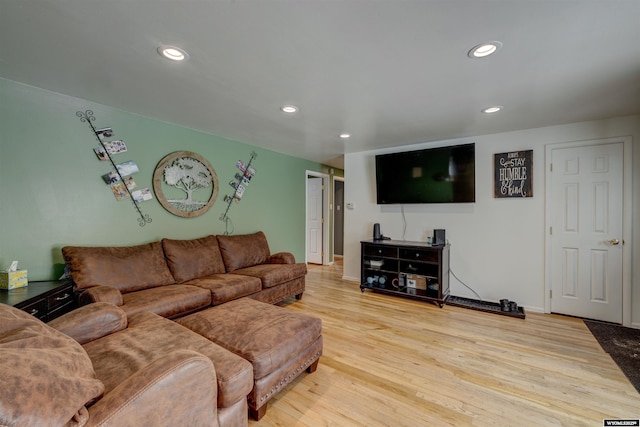
M 178 283 L 224 273 L 216 236 L 191 240 L 162 239 L 167 264 Z

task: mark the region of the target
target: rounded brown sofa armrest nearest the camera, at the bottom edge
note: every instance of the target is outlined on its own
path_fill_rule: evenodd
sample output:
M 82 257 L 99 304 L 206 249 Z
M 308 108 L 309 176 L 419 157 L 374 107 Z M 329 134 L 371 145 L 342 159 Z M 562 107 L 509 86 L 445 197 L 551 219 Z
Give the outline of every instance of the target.
M 177 350 L 128 377 L 89 408 L 88 426 L 217 426 L 211 360 Z

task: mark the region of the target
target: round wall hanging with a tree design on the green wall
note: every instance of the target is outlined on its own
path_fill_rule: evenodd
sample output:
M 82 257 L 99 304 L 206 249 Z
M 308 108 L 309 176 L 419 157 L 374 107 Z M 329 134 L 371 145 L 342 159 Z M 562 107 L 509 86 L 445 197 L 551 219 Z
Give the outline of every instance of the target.
M 160 204 L 172 214 L 194 218 L 215 203 L 218 175 L 204 157 L 191 151 L 176 151 L 156 166 L 153 191 Z

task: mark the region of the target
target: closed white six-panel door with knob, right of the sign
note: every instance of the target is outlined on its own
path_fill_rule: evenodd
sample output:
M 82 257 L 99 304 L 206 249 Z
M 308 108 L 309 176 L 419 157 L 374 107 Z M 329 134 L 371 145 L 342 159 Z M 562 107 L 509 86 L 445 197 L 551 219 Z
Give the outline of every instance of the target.
M 623 143 L 551 150 L 551 311 L 622 323 Z

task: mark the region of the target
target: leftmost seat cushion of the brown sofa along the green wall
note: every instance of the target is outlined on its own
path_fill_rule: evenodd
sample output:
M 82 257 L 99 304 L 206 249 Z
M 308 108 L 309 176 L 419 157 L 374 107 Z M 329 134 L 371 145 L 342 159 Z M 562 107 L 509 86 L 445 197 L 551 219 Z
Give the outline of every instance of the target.
M 120 307 L 127 317 L 150 311 L 162 317 L 174 318 L 211 305 L 211 292 L 189 285 L 158 286 L 122 295 Z

